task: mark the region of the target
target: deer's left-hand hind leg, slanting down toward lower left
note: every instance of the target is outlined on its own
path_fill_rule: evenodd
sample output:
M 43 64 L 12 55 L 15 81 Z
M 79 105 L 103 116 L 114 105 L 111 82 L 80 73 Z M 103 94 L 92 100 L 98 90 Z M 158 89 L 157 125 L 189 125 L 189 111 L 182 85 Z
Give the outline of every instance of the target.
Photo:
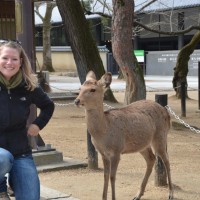
M 147 164 L 147 168 L 146 168 L 146 172 L 142 181 L 142 184 L 140 186 L 140 190 L 137 193 L 136 197 L 134 198 L 134 200 L 139 200 L 141 198 L 141 196 L 143 196 L 144 191 L 145 191 L 145 187 L 147 185 L 149 176 L 151 175 L 152 172 L 152 168 L 154 166 L 155 163 L 155 155 L 153 154 L 153 151 L 151 149 L 151 147 L 148 147 L 147 149 L 145 149 L 144 151 L 140 152 L 142 154 L 142 156 L 144 157 L 146 164 Z

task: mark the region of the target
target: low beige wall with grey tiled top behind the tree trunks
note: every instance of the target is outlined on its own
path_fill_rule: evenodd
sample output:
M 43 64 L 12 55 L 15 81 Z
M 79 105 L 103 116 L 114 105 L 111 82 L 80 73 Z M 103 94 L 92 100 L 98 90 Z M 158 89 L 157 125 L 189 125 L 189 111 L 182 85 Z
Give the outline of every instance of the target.
M 107 53 L 108 49 L 105 46 L 99 46 L 99 54 L 102 59 L 104 69 L 107 71 Z M 43 63 L 42 47 L 36 47 L 37 70 L 40 69 Z M 52 63 L 55 71 L 76 71 L 72 50 L 69 46 L 51 47 Z

